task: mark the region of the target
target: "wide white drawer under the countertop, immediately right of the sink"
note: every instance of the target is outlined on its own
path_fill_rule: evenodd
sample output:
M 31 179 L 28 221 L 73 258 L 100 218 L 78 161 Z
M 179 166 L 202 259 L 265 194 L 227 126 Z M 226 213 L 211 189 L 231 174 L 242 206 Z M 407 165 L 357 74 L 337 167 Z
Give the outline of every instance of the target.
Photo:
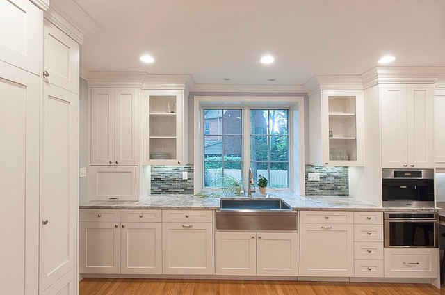
M 353 223 L 354 212 L 343 211 L 301 211 L 300 223 Z

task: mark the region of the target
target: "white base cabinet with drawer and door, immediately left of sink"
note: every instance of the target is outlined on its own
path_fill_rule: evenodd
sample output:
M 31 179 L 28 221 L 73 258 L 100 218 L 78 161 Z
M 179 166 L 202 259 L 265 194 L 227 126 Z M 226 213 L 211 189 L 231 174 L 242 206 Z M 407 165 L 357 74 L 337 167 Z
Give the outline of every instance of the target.
M 210 210 L 163 210 L 163 274 L 213 274 L 212 216 Z

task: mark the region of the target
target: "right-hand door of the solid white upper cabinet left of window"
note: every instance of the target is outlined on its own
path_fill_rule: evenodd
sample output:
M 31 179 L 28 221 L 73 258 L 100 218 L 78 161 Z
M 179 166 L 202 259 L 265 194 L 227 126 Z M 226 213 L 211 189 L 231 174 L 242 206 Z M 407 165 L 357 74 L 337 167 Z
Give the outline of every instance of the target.
M 115 89 L 114 164 L 138 165 L 138 90 Z

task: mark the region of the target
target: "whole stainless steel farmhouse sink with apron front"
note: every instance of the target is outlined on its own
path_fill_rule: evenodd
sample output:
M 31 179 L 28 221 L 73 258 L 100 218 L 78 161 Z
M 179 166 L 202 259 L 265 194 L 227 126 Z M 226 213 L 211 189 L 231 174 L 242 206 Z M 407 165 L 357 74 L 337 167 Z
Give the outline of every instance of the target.
M 216 230 L 297 230 L 297 212 L 280 199 L 221 199 Z

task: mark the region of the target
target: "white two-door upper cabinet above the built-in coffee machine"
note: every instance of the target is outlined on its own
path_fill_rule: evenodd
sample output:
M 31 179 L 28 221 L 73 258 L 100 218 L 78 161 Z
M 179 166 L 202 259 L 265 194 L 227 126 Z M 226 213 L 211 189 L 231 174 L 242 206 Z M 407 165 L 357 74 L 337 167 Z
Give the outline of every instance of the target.
M 382 168 L 433 168 L 432 84 L 382 84 Z

